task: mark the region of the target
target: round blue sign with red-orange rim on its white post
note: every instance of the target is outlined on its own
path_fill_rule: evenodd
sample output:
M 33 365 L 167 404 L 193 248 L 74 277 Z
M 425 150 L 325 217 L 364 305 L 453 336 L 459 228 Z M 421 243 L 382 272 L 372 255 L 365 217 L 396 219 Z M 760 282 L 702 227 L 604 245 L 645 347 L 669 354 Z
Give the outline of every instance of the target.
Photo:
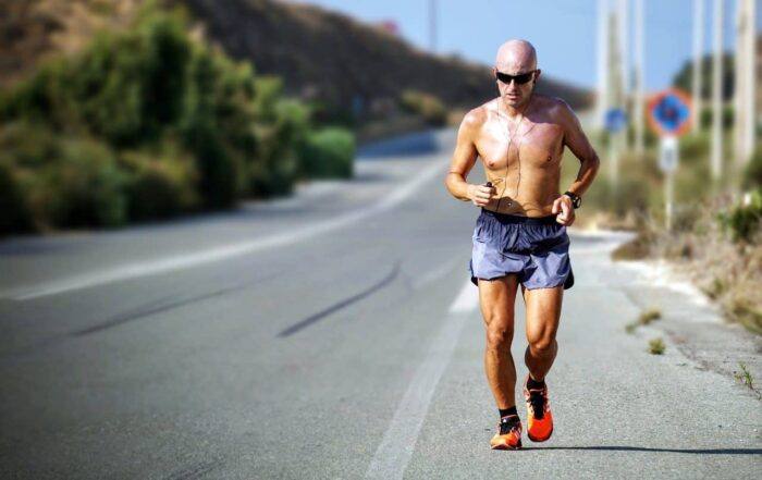
M 671 88 L 657 94 L 649 102 L 649 123 L 661 137 L 659 144 L 659 168 L 665 175 L 664 221 L 667 231 L 672 230 L 673 205 L 675 197 L 675 171 L 679 164 L 677 137 L 690 127 L 690 98 L 683 91 Z

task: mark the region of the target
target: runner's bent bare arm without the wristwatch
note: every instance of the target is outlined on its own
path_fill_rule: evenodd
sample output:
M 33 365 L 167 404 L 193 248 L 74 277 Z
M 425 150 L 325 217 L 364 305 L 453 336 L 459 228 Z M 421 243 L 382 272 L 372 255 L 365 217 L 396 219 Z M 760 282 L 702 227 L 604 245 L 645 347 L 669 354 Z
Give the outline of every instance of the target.
M 460 122 L 455 152 L 453 153 L 453 160 L 450 163 L 450 171 L 444 180 L 444 185 L 450 194 L 458 200 L 472 201 L 481 207 L 489 204 L 492 194 L 496 190 L 493 187 L 471 185 L 466 182 L 468 172 L 474 168 L 478 157 L 475 139 L 480 123 L 479 112 L 476 109 L 466 113 L 463 122 Z

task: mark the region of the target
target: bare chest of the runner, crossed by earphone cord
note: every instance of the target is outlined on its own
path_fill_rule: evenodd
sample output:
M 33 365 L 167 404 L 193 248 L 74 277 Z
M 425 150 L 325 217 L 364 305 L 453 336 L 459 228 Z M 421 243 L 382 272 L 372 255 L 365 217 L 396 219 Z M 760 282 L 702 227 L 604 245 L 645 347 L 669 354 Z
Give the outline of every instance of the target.
M 514 162 L 546 168 L 557 165 L 563 153 L 564 131 L 555 123 L 529 122 L 518 127 L 505 122 L 482 125 L 476 143 L 477 151 L 487 169 L 504 169 Z

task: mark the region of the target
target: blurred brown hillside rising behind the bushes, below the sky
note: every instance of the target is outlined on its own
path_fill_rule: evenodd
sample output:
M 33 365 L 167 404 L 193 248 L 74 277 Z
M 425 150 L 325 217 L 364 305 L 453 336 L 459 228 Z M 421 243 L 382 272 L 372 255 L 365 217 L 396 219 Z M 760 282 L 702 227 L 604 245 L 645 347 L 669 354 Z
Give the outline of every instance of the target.
M 51 52 L 70 52 L 99 28 L 120 28 L 142 0 L 29 0 L 0 2 L 0 77 L 25 75 Z M 288 94 L 341 110 L 383 113 L 406 88 L 427 91 L 448 107 L 491 98 L 486 65 L 428 54 L 401 38 L 346 15 L 273 0 L 167 0 L 185 8 L 200 30 L 257 72 L 282 76 Z M 573 107 L 589 91 L 543 77 L 540 90 Z

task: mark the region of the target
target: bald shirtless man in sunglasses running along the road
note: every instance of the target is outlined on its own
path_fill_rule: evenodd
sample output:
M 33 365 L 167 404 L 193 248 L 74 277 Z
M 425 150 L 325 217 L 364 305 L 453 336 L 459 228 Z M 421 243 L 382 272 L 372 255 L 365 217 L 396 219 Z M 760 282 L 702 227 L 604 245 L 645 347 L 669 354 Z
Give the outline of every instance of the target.
M 524 355 L 529 374 L 523 389 L 527 434 L 543 442 L 553 433 L 545 377 L 558 349 L 563 293 L 574 284 L 566 227 L 574 223 L 600 160 L 569 106 L 534 94 L 540 70 L 531 44 L 503 44 L 492 73 L 500 97 L 463 119 L 445 185 L 455 198 L 481 207 L 469 270 L 479 287 L 487 330 L 487 380 L 500 410 L 499 431 L 490 445 L 505 450 L 521 446 L 511 355 L 519 285 L 529 342 Z M 581 164 L 576 181 L 560 195 L 564 147 Z M 477 157 L 487 174 L 484 185 L 466 182 Z

